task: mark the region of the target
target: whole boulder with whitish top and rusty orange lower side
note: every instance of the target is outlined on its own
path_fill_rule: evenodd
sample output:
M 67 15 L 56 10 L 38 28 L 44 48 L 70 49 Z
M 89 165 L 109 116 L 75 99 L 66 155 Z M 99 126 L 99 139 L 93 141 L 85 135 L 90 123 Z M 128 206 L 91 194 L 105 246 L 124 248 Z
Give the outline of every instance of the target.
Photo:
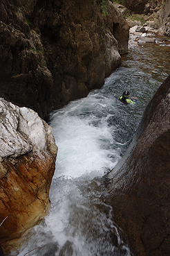
M 0 99 L 0 243 L 10 250 L 50 207 L 57 146 L 52 130 L 28 108 Z

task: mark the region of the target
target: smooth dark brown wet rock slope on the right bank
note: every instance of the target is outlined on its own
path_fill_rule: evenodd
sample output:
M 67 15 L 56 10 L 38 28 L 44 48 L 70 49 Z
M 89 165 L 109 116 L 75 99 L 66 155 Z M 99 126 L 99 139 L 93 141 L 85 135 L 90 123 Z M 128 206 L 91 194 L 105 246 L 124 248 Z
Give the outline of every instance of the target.
M 135 256 L 169 256 L 170 76 L 144 111 L 122 161 L 104 180 L 106 200 Z

